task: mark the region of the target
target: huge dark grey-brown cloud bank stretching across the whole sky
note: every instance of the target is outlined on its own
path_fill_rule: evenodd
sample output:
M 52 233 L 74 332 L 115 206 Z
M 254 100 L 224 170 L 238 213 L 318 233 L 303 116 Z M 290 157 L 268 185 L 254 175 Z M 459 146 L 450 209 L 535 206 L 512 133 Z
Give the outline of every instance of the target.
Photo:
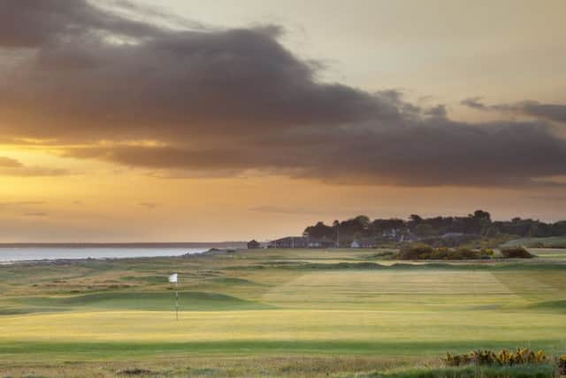
M 528 186 L 566 174 L 566 142 L 544 121 L 560 109 L 530 103 L 540 120 L 456 122 L 444 105 L 411 104 L 399 91 L 318 81 L 320 65 L 285 49 L 279 27 L 172 31 L 84 1 L 5 4 L 22 22 L 0 27 L 0 44 L 28 49 L 0 77 L 0 132 L 50 138 L 67 157 L 173 176 L 258 170 L 417 186 Z

